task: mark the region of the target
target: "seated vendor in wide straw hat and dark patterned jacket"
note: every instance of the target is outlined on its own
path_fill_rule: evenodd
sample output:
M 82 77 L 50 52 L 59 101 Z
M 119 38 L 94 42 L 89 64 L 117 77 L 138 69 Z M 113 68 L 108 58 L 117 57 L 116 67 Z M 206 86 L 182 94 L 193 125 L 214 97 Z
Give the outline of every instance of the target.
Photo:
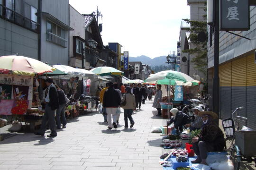
M 212 111 L 201 111 L 199 116 L 203 120 L 201 133 L 199 136 L 192 138 L 193 150 L 197 159 L 192 163 L 206 163 L 207 152 L 222 152 L 226 143 L 224 134 L 218 125 L 214 122 L 218 116 Z

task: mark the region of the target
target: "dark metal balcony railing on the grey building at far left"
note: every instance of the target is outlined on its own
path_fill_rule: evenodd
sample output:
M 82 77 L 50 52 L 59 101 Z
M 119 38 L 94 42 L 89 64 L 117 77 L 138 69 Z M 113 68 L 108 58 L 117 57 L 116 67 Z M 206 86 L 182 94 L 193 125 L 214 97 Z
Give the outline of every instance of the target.
M 39 24 L 0 4 L 0 18 L 38 33 Z

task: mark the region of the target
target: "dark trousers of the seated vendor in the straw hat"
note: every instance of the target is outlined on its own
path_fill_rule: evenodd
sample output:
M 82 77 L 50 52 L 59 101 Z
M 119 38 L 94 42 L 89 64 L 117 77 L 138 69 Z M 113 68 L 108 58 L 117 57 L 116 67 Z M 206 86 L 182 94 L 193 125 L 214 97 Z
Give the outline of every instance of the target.
M 193 143 L 193 150 L 199 160 L 207 158 L 207 152 L 214 152 L 213 146 L 206 144 L 204 141 Z

